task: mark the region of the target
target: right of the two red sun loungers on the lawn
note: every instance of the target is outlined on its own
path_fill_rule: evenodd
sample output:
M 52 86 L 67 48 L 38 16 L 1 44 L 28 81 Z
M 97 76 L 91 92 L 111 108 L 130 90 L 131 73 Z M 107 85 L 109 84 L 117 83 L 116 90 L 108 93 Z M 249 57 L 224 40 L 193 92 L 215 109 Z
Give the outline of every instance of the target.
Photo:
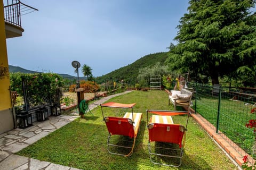
M 186 125 L 174 124 L 172 116 L 183 114 L 188 115 Z M 189 115 L 190 112 L 147 110 L 148 149 L 152 163 L 173 167 L 181 165 Z M 161 163 L 161 158 L 167 164 Z

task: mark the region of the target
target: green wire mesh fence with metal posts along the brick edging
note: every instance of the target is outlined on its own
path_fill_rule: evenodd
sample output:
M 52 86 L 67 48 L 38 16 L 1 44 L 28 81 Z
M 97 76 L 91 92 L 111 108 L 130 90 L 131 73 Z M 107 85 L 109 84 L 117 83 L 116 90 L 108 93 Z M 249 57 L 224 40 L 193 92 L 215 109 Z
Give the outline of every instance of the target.
M 188 83 L 187 86 L 193 88 L 193 109 L 196 113 L 214 125 L 217 133 L 224 134 L 228 142 L 234 142 L 233 147 L 238 145 L 255 158 L 255 133 L 253 129 L 245 126 L 249 120 L 256 119 L 256 115 L 251 113 L 251 109 L 256 107 L 256 93 L 253 91 L 255 88 L 208 86 L 198 83 Z

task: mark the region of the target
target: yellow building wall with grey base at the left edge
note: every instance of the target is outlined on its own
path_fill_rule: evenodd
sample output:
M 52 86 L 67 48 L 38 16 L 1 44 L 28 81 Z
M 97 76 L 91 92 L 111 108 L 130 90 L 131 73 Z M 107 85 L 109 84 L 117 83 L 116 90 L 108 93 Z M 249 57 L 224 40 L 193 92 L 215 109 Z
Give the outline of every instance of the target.
M 4 26 L 4 4 L 0 2 L 0 134 L 14 128 L 10 77 Z

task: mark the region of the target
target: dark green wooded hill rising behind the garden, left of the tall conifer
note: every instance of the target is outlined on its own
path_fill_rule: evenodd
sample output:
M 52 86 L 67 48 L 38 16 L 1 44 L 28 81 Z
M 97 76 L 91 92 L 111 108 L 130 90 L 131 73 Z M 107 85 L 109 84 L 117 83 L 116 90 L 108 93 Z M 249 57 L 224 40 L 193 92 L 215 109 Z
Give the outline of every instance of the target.
M 154 53 L 141 57 L 139 60 L 135 61 L 132 64 L 121 67 L 115 71 L 112 71 L 101 77 L 97 77 L 97 83 L 103 83 L 106 80 L 120 82 L 124 80 L 126 83 L 135 84 L 137 81 L 136 78 L 139 74 L 139 69 L 142 69 L 147 66 L 153 66 L 157 62 L 163 64 L 167 58 L 167 52 Z

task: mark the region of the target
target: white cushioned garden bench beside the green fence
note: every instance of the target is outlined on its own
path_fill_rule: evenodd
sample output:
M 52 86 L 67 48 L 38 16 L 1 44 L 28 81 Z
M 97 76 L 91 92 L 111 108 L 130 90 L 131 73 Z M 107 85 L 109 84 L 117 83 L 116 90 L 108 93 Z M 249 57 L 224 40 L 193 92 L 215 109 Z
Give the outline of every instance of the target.
M 176 106 L 188 107 L 190 109 L 190 102 L 193 92 L 187 89 L 171 90 L 169 94 L 169 105 L 173 104 L 174 111 L 176 111 Z

